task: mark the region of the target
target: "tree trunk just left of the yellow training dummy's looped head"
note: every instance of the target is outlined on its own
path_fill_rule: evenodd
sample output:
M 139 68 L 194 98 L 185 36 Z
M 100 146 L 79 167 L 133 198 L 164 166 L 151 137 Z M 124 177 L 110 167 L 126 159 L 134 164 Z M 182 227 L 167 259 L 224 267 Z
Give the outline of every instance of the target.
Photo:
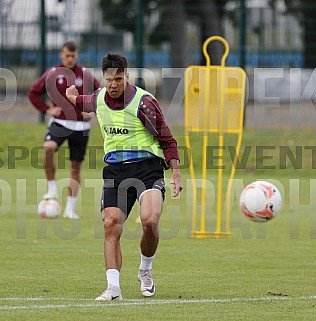
M 165 26 L 170 37 L 171 66 L 186 67 L 185 11 L 182 0 L 165 0 Z

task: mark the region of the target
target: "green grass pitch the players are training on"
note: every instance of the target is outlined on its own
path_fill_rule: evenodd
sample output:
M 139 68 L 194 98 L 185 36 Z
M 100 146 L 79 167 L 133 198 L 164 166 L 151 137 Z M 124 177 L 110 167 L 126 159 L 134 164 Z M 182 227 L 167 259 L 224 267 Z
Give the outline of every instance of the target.
M 315 320 L 316 159 L 312 132 L 267 136 L 245 131 L 243 164 L 236 182 L 274 180 L 281 186 L 284 208 L 267 224 L 252 223 L 240 213 L 237 195 L 229 239 L 190 237 L 190 176 L 188 168 L 183 168 L 181 196 L 172 200 L 167 189 L 153 266 L 155 296 L 143 299 L 137 281 L 141 228 L 135 222 L 136 207 L 122 237 L 124 300 L 100 303 L 94 298 L 106 284 L 99 213 L 103 166 L 99 129 L 92 129 L 89 144 L 98 148 L 90 149 L 82 171 L 77 205 L 82 219 L 69 221 L 43 220 L 36 215 L 37 202 L 46 189 L 40 152 L 45 126 L 0 126 L 1 321 Z M 174 129 L 180 146 L 184 146 L 182 132 Z M 192 141 L 194 158 L 201 160 L 199 137 Z M 283 155 L 286 150 L 286 155 L 292 151 L 291 160 Z M 64 205 L 68 163 L 64 166 L 63 158 L 59 162 L 57 180 Z M 216 166 L 216 159 L 212 162 L 209 165 Z M 216 182 L 216 170 L 208 173 L 208 181 Z M 169 176 L 167 171 L 166 178 Z M 210 211 L 214 206 L 210 204 Z

